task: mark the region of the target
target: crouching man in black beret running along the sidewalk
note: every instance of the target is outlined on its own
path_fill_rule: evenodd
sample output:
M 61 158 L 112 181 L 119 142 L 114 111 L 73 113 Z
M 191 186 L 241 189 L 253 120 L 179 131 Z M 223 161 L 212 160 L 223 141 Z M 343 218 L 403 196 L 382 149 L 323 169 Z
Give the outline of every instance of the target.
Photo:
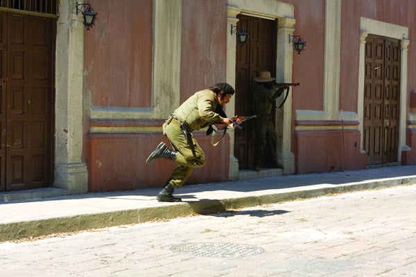
M 234 88 L 225 82 L 214 87 L 197 91 L 180 105 L 163 124 L 163 134 L 171 141 L 173 150 L 166 143 L 157 145 L 146 163 L 153 159 L 170 159 L 179 164 L 166 181 L 166 186 L 157 195 L 159 202 L 181 202 L 173 197 L 174 188 L 182 186 L 187 181 L 193 168 L 205 165 L 205 154 L 194 139 L 192 132 L 211 124 L 231 124 L 231 118 L 225 118 L 216 113 L 217 105 L 225 107 L 234 94 Z M 238 122 L 238 121 L 237 121 Z M 241 122 L 238 122 L 241 123 Z

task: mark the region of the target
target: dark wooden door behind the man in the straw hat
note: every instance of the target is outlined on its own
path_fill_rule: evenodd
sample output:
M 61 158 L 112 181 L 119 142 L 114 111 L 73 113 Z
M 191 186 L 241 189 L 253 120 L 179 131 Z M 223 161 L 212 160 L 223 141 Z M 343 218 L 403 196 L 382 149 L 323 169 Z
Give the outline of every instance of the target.
M 252 95 L 250 88 L 253 79 L 262 70 L 275 75 L 277 21 L 238 15 L 237 30 L 241 26 L 250 35 L 248 42 L 236 45 L 236 114 L 252 114 Z M 254 154 L 253 121 L 247 121 L 243 129 L 234 134 L 234 156 L 239 159 L 239 169 L 252 166 Z

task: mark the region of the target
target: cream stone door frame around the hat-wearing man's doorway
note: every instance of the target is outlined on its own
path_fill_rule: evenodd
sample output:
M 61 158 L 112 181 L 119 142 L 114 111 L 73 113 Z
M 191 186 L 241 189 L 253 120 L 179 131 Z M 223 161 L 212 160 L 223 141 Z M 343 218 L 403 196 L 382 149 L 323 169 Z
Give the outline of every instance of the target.
M 261 1 L 227 1 L 227 82 L 235 87 L 236 80 L 236 35 L 231 34 L 231 26 L 237 24 L 237 15 L 243 14 L 250 17 L 261 17 L 276 20 L 277 26 L 277 53 L 276 53 L 276 78 L 277 82 L 292 82 L 293 48 L 289 44 L 289 35 L 295 32 L 294 6 L 282 2 Z M 249 34 L 250 35 L 250 34 Z M 249 38 L 250 39 L 250 38 Z M 227 112 L 235 114 L 235 100 L 232 98 L 227 105 Z M 295 172 L 295 155 L 291 152 L 291 123 L 292 123 L 292 97 L 289 93 L 286 103 L 276 113 L 276 129 L 282 133 L 278 160 L 284 167 L 283 174 L 291 175 Z M 230 129 L 229 147 L 229 179 L 239 179 L 239 161 L 234 157 L 234 131 Z

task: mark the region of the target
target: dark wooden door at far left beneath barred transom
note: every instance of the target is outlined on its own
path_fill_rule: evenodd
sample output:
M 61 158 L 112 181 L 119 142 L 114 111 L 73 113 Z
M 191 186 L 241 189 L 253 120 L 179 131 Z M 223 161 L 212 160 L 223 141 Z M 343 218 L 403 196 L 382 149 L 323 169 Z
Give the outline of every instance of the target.
M 1 18 L 0 190 L 51 184 L 54 19 Z

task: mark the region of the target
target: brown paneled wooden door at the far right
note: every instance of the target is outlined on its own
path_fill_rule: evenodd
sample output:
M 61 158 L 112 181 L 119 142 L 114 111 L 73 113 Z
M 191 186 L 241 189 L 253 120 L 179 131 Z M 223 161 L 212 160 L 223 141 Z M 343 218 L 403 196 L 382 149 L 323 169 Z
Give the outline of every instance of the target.
M 367 166 L 398 159 L 400 61 L 397 39 L 367 36 L 363 122 Z

